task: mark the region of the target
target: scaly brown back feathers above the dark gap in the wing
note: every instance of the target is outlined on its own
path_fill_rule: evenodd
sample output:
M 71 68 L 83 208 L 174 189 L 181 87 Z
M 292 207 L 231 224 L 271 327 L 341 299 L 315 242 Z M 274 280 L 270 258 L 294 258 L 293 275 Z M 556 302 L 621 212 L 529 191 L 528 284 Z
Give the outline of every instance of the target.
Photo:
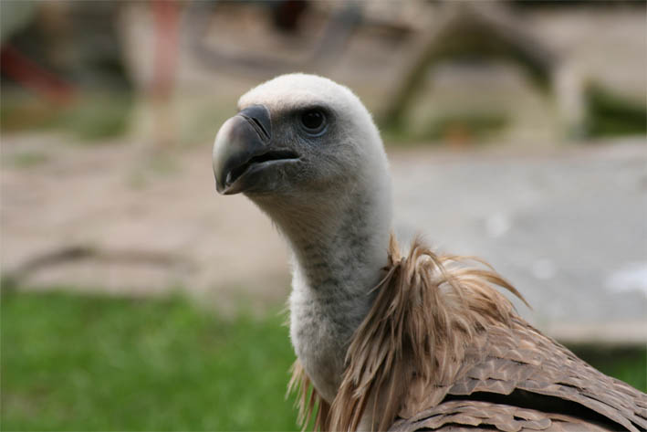
M 585 406 L 630 430 L 647 428 L 646 395 L 601 374 L 518 317 L 508 329 L 487 332 L 486 343 L 466 357 L 478 361 L 457 375 L 448 395 L 524 390 Z

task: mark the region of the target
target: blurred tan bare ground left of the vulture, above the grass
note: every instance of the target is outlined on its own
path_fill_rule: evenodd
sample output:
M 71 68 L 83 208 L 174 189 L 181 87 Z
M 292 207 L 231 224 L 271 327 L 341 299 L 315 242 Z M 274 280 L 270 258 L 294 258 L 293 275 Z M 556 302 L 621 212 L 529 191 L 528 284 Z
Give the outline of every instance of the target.
M 286 249 L 243 196 L 216 196 L 210 153 L 4 137 L 5 275 L 32 289 L 211 293 L 223 309 L 283 299 Z M 29 154 L 41 162 L 19 162 Z

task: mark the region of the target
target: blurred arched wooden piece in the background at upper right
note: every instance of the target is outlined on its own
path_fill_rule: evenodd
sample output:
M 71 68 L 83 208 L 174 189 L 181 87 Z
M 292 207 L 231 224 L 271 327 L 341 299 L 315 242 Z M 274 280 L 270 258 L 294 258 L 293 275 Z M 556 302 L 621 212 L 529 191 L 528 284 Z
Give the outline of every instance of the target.
M 430 23 L 419 51 L 404 68 L 381 113 L 382 125 L 402 126 L 406 110 L 423 85 L 428 69 L 439 59 L 454 55 L 452 50 L 473 48 L 470 44 L 477 44 L 486 55 L 494 56 L 496 47 L 493 46 L 498 44 L 505 47 L 506 56 L 526 69 L 537 88 L 556 101 L 559 132 L 567 138 L 581 135 L 585 116 L 584 80 L 574 65 L 542 43 L 502 5 L 458 2 L 446 5 L 442 12 Z

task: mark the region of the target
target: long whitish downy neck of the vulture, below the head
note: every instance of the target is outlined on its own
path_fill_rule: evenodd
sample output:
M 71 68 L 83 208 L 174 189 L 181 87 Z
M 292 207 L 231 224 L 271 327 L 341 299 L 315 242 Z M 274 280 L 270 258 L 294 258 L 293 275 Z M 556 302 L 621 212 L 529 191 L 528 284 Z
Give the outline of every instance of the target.
M 267 208 L 293 252 L 290 336 L 301 364 L 329 402 L 337 393 L 346 349 L 372 306 L 371 289 L 387 264 L 391 195 L 362 194 L 320 204 Z M 367 198 L 370 197 L 370 198 Z M 318 209 L 315 211 L 315 207 Z M 321 210 L 324 209 L 324 210 Z

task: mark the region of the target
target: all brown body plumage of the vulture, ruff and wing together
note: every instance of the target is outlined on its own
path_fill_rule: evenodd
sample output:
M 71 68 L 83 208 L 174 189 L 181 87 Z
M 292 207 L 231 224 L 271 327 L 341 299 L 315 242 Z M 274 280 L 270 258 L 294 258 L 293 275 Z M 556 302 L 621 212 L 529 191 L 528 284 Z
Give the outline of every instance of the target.
M 337 397 L 331 406 L 314 390 L 308 398 L 300 371 L 302 412 L 318 402 L 318 426 L 332 430 L 355 430 L 366 417 L 372 428 L 402 431 L 647 428 L 647 395 L 538 332 L 493 285 L 523 300 L 517 290 L 482 261 L 486 269 L 465 261 L 418 241 L 402 258 L 391 238 L 390 266 L 350 342 Z M 528 409 L 535 406 L 523 406 L 520 395 L 565 408 Z

